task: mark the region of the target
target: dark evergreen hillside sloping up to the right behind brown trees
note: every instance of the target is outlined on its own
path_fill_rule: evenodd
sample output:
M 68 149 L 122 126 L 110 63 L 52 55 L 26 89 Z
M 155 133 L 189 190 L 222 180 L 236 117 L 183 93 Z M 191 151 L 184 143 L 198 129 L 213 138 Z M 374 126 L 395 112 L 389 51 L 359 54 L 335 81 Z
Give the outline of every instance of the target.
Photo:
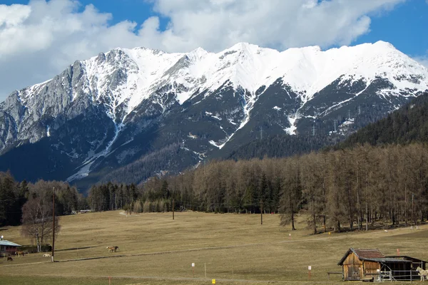
M 350 147 L 366 142 L 370 145 L 428 142 L 428 93 L 414 98 L 387 118 L 358 130 L 338 146 Z

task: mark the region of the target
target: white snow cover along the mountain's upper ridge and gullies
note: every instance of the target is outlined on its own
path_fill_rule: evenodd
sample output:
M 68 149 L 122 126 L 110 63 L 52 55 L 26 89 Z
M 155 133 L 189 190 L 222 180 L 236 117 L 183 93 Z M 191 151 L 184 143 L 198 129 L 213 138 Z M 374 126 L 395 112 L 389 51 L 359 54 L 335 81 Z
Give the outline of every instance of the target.
M 56 118 L 78 99 L 83 102 L 76 103 L 67 118 L 75 117 L 90 104 L 103 105 L 115 125 L 116 138 L 127 116 L 145 100 L 152 100 L 165 111 L 163 96 L 166 93 L 173 94 L 175 100 L 183 104 L 204 91 L 207 98 L 228 82 L 234 90 L 244 91 L 245 116 L 236 122 L 243 128 L 258 98 L 263 96 L 263 93 L 256 95 L 256 91 L 272 86 L 278 79 L 305 104 L 337 79 L 346 83 L 361 81 L 367 88 L 378 77 L 393 85 L 377 90 L 380 96 L 415 95 L 428 90 L 427 68 L 383 41 L 327 51 L 309 46 L 280 52 L 250 43 L 237 43 L 219 53 L 203 48 L 189 53 L 115 48 L 88 60 L 76 61 L 51 81 L 19 90 L 1 103 L 0 109 L 14 122 L 8 123 L 8 142 L 5 139 L 0 147 L 3 149 L 9 141 L 34 142 L 46 136 L 46 126 L 41 128 L 43 134 L 32 135 L 31 125 L 45 115 Z M 296 113 L 292 118 L 297 117 Z

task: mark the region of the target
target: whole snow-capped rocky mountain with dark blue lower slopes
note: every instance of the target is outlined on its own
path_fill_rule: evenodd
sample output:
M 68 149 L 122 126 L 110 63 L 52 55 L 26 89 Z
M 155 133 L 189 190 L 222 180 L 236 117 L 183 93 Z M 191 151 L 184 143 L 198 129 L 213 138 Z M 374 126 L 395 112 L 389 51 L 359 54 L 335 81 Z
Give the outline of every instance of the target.
M 327 51 L 249 43 L 220 53 L 115 48 L 0 103 L 0 169 L 31 180 L 25 173 L 36 167 L 37 178 L 95 182 L 121 180 L 110 172 L 128 167 L 144 172 L 139 182 L 153 169 L 180 171 L 233 150 L 261 129 L 353 130 L 424 90 L 427 68 L 382 41 Z M 24 153 L 40 160 L 23 167 Z M 158 166 L 148 170 L 151 163 Z

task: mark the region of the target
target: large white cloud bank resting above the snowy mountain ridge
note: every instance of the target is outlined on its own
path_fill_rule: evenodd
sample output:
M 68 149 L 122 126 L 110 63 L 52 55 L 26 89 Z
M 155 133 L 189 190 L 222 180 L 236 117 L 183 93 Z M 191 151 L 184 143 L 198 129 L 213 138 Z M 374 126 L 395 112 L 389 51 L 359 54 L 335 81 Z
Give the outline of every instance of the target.
M 76 59 L 114 47 L 219 51 L 239 41 L 285 49 L 348 45 L 370 31 L 370 17 L 406 0 L 147 0 L 158 16 L 138 25 L 76 0 L 0 5 L 0 100 L 45 81 Z

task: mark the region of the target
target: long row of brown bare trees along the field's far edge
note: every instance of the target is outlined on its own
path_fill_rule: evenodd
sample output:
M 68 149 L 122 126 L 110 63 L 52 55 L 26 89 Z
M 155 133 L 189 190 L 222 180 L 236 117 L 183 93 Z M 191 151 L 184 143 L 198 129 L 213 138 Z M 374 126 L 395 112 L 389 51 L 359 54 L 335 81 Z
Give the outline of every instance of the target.
M 141 185 L 97 185 L 97 210 L 174 208 L 205 212 L 279 212 L 295 229 L 307 214 L 313 232 L 416 224 L 428 218 L 428 147 L 357 145 L 287 158 L 223 160 Z

